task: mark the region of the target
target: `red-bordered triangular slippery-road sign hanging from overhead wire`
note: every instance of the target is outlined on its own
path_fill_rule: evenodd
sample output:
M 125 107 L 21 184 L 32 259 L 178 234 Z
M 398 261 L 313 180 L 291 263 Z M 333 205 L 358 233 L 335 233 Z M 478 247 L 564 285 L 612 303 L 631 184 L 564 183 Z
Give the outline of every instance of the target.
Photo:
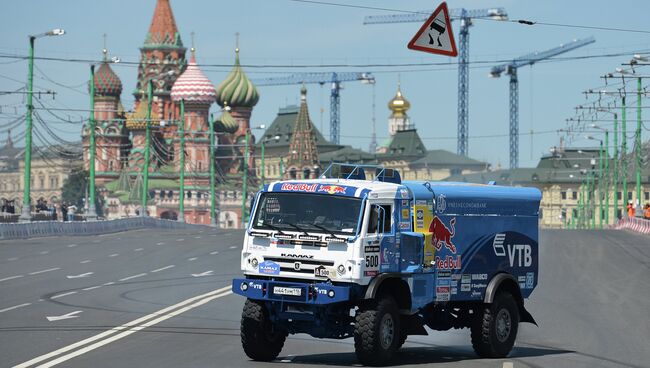
M 408 48 L 432 54 L 458 55 L 446 2 L 440 4 L 424 22 L 418 33 L 409 42 Z

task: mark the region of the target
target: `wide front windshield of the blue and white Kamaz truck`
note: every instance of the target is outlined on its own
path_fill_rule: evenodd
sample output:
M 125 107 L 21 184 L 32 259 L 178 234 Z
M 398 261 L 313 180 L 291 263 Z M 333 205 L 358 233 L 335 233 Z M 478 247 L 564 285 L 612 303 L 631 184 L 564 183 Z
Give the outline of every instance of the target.
M 262 193 L 253 219 L 256 229 L 356 234 L 361 199 L 305 193 Z M 325 230 L 326 229 L 326 230 Z

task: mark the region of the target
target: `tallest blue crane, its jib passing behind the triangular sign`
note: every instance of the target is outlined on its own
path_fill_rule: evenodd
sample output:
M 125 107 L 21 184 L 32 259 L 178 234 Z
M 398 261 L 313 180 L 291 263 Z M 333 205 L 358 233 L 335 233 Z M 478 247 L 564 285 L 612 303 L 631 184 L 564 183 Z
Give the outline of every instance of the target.
M 371 15 L 365 17 L 363 24 L 424 22 L 433 10 L 423 10 L 417 13 Z M 492 20 L 507 20 L 508 14 L 503 8 L 490 9 L 451 9 L 449 17 L 460 19 L 458 37 L 458 148 L 459 155 L 469 154 L 469 27 L 472 19 L 487 18 Z

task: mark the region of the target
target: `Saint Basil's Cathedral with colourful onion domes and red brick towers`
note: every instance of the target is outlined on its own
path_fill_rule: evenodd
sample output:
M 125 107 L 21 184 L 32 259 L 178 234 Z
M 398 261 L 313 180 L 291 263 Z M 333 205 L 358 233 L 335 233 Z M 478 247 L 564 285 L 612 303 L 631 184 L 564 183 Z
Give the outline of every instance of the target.
M 243 160 L 249 134 L 249 172 L 255 173 L 255 137 L 250 118 L 259 100 L 255 86 L 239 63 L 216 88 L 196 63 L 195 50 L 183 46 L 169 0 L 158 0 L 153 20 L 140 48 L 138 80 L 133 91 L 132 112 L 121 103 L 122 82 L 111 69 L 106 49 L 104 61 L 94 75 L 94 117 L 96 121 L 96 183 L 104 198 L 105 217 L 139 215 L 142 200 L 142 172 L 145 160 L 149 81 L 152 82 L 150 124 L 149 198 L 150 216 L 189 223 L 210 223 L 210 136 L 209 110 L 221 107 L 215 120 L 218 222 L 222 227 L 241 223 Z M 184 100 L 185 211 L 179 216 L 180 101 Z M 89 134 L 82 131 L 84 166 L 89 167 Z M 253 194 L 260 185 L 249 175 Z

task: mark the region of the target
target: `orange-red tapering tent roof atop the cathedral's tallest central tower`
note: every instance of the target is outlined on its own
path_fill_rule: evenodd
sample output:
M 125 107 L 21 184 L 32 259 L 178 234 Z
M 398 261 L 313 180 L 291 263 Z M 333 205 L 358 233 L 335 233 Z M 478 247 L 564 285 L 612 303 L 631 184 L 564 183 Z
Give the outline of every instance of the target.
M 156 2 L 156 9 L 153 12 L 149 32 L 147 32 L 147 37 L 144 40 L 143 48 L 160 47 L 183 47 L 169 0 L 158 0 Z

